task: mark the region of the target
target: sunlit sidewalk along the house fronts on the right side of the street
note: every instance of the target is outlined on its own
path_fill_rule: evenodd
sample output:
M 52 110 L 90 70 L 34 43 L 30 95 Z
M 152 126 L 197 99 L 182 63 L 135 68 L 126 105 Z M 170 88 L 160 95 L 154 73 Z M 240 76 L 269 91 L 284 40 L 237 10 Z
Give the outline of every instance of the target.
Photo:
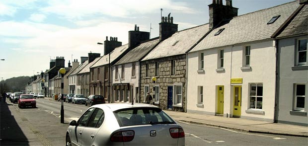
M 251 133 L 308 137 L 308 127 L 305 126 L 271 123 L 241 118 L 226 118 L 221 116 L 175 112 L 169 110 L 164 111 L 176 121 L 192 124 L 203 124 Z

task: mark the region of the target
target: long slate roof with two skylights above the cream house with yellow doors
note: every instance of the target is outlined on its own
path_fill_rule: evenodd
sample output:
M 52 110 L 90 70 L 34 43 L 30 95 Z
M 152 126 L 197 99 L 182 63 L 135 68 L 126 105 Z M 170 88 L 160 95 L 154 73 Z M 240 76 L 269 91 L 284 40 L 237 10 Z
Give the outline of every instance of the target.
M 275 7 L 233 17 L 229 23 L 215 28 L 190 52 L 229 46 L 234 44 L 271 39 L 271 35 L 299 7 L 298 1 L 292 1 Z M 272 17 L 280 17 L 272 24 L 267 24 Z M 218 30 L 225 28 L 219 35 Z

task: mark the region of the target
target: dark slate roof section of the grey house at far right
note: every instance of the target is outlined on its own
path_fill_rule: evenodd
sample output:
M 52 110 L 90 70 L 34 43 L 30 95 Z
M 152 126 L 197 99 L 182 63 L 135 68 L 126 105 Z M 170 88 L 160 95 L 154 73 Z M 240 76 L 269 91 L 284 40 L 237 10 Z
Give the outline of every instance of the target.
M 276 38 L 304 34 L 308 34 L 308 4 L 304 5 L 301 11 Z

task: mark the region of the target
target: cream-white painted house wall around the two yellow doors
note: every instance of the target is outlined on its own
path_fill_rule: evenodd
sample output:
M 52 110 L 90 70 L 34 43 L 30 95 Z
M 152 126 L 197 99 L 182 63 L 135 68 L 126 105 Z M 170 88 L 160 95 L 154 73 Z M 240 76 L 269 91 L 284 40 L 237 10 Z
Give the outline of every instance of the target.
M 244 70 L 243 49 L 250 46 L 250 67 Z M 218 52 L 224 49 L 224 69 L 218 72 Z M 204 73 L 198 73 L 198 57 L 204 53 Z M 187 109 L 189 112 L 217 113 L 217 86 L 224 86 L 224 116 L 233 115 L 233 85 L 241 85 L 241 118 L 273 121 L 275 103 L 274 41 L 227 46 L 188 54 Z M 199 71 L 200 72 L 200 71 Z M 242 83 L 231 84 L 231 78 Z M 262 110 L 249 109 L 249 83 L 263 83 Z M 203 106 L 197 104 L 198 86 L 203 86 Z

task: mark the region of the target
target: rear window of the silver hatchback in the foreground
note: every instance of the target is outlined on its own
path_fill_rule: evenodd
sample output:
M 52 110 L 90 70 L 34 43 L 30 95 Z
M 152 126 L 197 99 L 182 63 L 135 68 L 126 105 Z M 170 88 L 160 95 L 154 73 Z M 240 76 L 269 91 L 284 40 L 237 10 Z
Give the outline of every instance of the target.
M 146 124 L 175 124 L 175 122 L 159 108 L 127 108 L 114 111 L 113 113 L 120 127 Z

